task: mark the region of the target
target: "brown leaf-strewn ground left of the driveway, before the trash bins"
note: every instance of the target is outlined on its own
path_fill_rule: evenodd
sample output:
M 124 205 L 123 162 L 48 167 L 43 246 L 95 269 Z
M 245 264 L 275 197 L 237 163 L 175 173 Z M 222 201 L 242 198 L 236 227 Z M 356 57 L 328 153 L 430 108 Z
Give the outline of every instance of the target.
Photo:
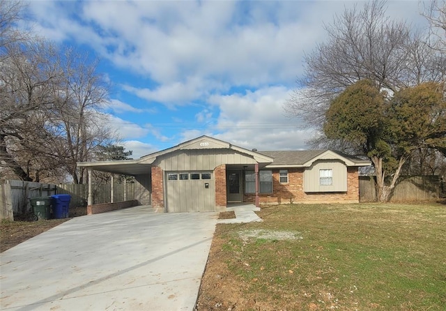
M 3 221 L 0 222 L 0 252 L 37 236 L 70 218 L 40 220 L 36 222 Z

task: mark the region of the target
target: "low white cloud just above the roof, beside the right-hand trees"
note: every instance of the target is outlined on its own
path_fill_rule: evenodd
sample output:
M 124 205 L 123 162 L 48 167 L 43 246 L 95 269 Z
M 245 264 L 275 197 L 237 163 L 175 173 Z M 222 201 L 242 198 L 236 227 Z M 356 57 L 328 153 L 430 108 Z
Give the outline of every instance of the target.
M 309 133 L 299 130 L 295 119 L 284 114 L 282 105 L 290 89 L 272 86 L 246 94 L 213 96 L 210 103 L 218 105 L 220 116 L 215 126 L 220 139 L 247 149 L 305 149 Z

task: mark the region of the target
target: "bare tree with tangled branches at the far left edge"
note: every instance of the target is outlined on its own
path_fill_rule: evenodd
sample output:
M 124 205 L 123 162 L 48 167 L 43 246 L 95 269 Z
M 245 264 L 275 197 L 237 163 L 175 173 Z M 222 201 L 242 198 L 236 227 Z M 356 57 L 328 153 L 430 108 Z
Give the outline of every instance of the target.
M 55 50 L 34 40 L 7 45 L 4 51 L 8 57 L 0 68 L 0 165 L 22 180 L 38 180 L 30 166 L 36 165 L 34 172 L 41 170 L 38 159 L 46 152 L 39 118 L 54 106 L 50 92 L 60 75 L 52 63 Z

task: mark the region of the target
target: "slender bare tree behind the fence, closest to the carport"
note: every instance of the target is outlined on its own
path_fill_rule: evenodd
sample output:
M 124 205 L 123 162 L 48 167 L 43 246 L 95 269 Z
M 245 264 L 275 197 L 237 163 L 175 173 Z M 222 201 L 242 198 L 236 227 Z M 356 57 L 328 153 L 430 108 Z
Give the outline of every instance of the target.
M 77 162 L 90 160 L 92 149 L 116 139 L 102 112 L 108 101 L 109 85 L 96 72 L 98 61 L 67 48 L 57 59 L 62 74 L 53 91 L 56 105 L 49 115 L 47 128 L 52 130 L 56 161 L 83 183 L 84 169 Z

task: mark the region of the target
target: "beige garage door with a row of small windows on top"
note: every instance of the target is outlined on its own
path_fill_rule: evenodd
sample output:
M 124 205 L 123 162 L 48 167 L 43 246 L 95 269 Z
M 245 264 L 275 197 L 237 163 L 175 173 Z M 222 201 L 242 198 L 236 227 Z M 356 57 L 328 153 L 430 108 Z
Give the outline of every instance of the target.
M 167 212 L 215 211 L 212 172 L 166 172 Z

